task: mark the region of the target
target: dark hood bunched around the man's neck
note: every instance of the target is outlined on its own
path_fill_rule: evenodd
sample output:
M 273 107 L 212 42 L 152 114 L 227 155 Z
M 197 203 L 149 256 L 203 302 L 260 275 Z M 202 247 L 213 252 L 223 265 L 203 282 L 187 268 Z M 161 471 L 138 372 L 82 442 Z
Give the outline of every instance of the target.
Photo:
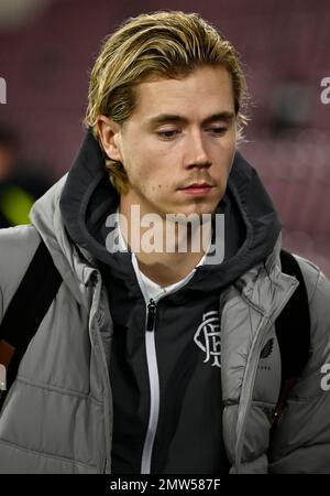
M 109 181 L 103 152 L 91 130 L 65 177 L 35 203 L 33 224 L 43 229 L 41 218 L 50 211 L 50 202 L 54 204 L 52 197 L 56 192 L 57 215 L 62 216 L 69 238 L 97 262 L 135 285 L 131 254 L 110 254 L 106 248 L 106 219 L 117 211 L 119 194 Z M 240 152 L 235 153 L 226 195 L 216 213 L 224 213 L 224 260 L 198 267 L 187 289 L 210 291 L 233 282 L 273 251 L 280 233 L 280 222 L 270 196 L 256 171 Z

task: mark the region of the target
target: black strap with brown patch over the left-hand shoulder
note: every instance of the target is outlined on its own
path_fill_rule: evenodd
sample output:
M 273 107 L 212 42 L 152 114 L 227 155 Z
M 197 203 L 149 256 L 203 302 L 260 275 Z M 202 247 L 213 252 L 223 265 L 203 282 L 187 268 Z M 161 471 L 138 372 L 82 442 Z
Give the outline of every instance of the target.
M 14 270 L 14 267 L 12 268 Z M 20 362 L 62 282 L 50 251 L 41 240 L 0 324 L 0 364 L 7 369 L 6 390 L 14 381 Z M 4 400 L 0 398 L 0 408 Z

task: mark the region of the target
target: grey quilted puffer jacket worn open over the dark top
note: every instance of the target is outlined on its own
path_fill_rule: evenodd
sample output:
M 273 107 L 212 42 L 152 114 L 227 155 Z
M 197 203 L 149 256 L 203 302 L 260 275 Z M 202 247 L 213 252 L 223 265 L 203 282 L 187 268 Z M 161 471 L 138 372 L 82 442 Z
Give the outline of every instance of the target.
M 21 362 L 0 417 L 1 473 L 110 473 L 113 333 L 94 259 L 65 229 L 59 200 L 67 176 L 38 201 L 32 225 L 0 231 L 0 321 L 40 241 L 63 284 Z M 265 259 L 221 291 L 223 439 L 231 473 L 330 473 L 330 284 L 298 258 L 311 316 L 310 359 L 270 443 L 280 382 L 274 322 L 296 290 L 282 272 L 280 235 Z M 270 338 L 274 348 L 261 352 Z M 297 343 L 299 353 L 299 343 Z

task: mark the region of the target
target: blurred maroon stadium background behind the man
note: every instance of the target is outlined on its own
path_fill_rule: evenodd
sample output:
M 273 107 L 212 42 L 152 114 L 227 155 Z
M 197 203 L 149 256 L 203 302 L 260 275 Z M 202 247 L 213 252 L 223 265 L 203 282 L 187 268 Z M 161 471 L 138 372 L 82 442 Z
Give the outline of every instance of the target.
M 69 169 L 105 36 L 164 9 L 200 13 L 238 50 L 251 96 L 240 148 L 280 213 L 284 246 L 330 277 L 329 0 L 0 0 L 0 225 L 29 222 Z

